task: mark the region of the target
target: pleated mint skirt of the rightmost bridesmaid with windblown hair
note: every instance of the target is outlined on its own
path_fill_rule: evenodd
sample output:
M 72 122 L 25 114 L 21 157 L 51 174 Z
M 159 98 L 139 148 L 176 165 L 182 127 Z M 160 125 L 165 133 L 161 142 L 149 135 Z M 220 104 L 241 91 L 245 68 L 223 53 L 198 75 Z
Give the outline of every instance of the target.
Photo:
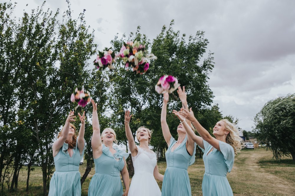
M 233 196 L 226 177 L 208 173 L 204 174 L 202 192 L 203 196 Z

